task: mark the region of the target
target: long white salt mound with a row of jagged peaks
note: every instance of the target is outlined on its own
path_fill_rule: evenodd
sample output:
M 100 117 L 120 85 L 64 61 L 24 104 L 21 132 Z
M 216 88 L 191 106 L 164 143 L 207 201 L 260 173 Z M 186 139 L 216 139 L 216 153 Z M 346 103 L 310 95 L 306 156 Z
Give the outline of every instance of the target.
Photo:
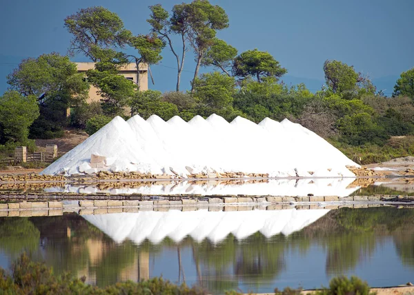
M 167 122 L 155 115 L 128 121 L 117 116 L 41 174 L 355 176 L 346 165 L 358 167 L 320 136 L 287 119 L 255 124 L 237 116 L 228 123 L 213 114 L 186 123 L 178 116 Z

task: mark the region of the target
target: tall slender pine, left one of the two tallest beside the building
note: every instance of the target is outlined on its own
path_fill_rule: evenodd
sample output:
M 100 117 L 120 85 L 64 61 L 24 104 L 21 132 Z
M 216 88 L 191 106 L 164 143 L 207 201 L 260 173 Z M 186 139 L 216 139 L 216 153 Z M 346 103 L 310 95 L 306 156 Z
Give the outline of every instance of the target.
M 190 29 L 188 24 L 188 4 L 177 4 L 172 8 L 172 15 L 161 6 L 156 4 L 149 7 L 151 10 L 150 18 L 147 19 L 151 26 L 151 32 L 157 34 L 157 37 L 168 44 L 172 54 L 177 60 L 177 86 L 179 91 L 179 84 L 181 79 L 181 72 L 184 68 L 184 59 L 187 51 L 187 33 Z M 172 35 L 177 34 L 181 39 L 180 51 L 175 50 L 172 45 Z

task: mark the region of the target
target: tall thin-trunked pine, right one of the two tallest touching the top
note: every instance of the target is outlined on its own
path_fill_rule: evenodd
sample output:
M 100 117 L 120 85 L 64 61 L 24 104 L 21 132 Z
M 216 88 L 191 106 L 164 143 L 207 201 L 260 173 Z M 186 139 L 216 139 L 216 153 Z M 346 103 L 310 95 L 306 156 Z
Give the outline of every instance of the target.
M 191 91 L 194 90 L 195 78 L 198 76 L 201 61 L 208 48 L 215 44 L 217 30 L 228 28 L 228 16 L 220 6 L 213 6 L 208 0 L 195 0 L 188 6 L 190 30 L 188 40 L 195 52 L 195 72 Z

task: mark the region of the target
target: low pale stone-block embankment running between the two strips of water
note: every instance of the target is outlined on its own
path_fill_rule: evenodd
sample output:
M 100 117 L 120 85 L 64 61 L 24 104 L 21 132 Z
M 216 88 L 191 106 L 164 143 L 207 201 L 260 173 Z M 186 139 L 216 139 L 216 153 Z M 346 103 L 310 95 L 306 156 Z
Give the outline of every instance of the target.
M 137 199 L 137 200 L 75 200 L 75 201 L 22 201 L 0 203 L 0 216 L 57 216 L 64 212 L 78 214 L 110 214 L 139 211 L 248 211 L 248 210 L 311 210 L 341 207 L 365 208 L 414 203 L 414 199 L 403 196 L 224 196 L 181 199 Z

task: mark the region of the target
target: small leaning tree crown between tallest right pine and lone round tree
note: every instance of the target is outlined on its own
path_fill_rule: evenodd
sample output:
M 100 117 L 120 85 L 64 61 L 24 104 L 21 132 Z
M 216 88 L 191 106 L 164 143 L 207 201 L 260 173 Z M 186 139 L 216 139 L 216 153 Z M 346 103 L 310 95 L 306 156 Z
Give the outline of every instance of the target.
M 237 49 L 228 45 L 225 41 L 215 38 L 213 44 L 208 48 L 201 60 L 202 66 L 213 65 L 231 76 L 230 70 L 233 60 L 237 56 Z

